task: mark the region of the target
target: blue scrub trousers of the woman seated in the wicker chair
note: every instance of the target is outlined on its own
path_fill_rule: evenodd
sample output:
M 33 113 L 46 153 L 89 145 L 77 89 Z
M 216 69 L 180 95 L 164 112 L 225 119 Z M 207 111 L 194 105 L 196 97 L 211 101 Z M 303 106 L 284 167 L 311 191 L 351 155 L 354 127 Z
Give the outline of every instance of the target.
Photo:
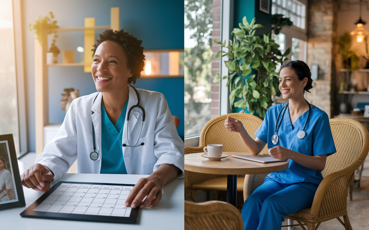
M 315 191 L 301 184 L 267 179 L 246 199 L 241 216 L 245 230 L 280 230 L 284 216 L 313 204 Z

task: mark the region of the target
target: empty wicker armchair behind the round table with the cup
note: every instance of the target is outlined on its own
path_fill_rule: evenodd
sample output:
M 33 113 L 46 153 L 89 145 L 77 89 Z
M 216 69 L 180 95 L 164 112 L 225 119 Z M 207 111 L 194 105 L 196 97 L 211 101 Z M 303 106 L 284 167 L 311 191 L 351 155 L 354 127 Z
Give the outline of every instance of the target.
M 208 121 L 201 131 L 199 146 L 184 148 L 184 154 L 203 152 L 203 148 L 208 144 L 223 144 L 224 152 L 250 152 L 238 133 L 229 132 L 224 128 L 224 120 L 227 116 L 241 121 L 246 131 L 255 139 L 254 134 L 262 123 L 259 117 L 247 113 L 225 114 Z M 262 150 L 262 153 L 268 153 L 266 147 Z M 244 176 L 239 175 L 237 178 L 237 191 L 242 191 L 244 188 Z M 194 198 L 196 190 L 213 191 L 215 199 L 217 199 L 217 191 L 227 191 L 227 175 L 194 173 L 185 170 L 184 194 L 190 201 L 196 202 Z

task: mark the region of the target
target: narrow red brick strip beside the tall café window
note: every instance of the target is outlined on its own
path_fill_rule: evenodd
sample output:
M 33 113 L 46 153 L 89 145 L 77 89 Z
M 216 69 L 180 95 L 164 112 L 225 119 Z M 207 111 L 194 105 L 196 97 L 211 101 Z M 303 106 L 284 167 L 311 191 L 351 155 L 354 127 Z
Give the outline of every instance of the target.
M 220 45 L 214 42 L 214 39 L 220 40 L 220 7 L 221 7 L 221 0 L 213 0 L 213 57 L 212 57 L 212 64 L 211 64 L 211 82 L 215 77 L 215 73 L 220 71 L 220 62 L 219 58 L 214 59 L 215 54 L 220 50 Z M 220 87 L 219 83 L 214 84 L 211 83 L 211 119 L 214 117 L 219 116 L 219 96 L 220 96 Z

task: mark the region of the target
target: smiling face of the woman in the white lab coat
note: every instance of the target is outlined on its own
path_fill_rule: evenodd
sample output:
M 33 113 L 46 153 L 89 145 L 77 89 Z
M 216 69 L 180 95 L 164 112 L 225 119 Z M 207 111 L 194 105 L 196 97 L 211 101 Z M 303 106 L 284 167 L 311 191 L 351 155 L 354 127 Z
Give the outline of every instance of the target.
M 123 47 L 113 41 L 105 41 L 96 48 L 91 72 L 99 92 L 122 91 L 133 75 Z

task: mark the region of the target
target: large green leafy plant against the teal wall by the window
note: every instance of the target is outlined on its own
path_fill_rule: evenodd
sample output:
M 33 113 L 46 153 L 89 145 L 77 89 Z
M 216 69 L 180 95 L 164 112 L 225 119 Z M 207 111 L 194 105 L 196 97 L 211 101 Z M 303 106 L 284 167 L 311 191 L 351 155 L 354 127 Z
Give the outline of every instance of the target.
M 225 45 L 225 41 L 223 43 L 219 40 L 215 41 L 221 47 L 228 48 L 228 53 L 221 50 L 215 58 L 221 54 L 228 56 L 229 60 L 225 61 L 225 65 L 229 75 L 220 77 L 217 72 L 213 82 L 228 78 L 227 86 L 231 91 L 230 105 L 243 108 L 241 112 L 244 112 L 247 107 L 250 114 L 256 112 L 264 118 L 273 103 L 272 95 L 280 95 L 276 66 L 287 60 L 286 55 L 289 54 L 290 49 L 282 54 L 278 49 L 279 45 L 270 39 L 270 33 L 264 34 L 262 38 L 255 35 L 255 29 L 262 27 L 260 24 L 255 24 L 255 18 L 248 23 L 244 17 L 242 22 L 239 23 L 239 28 L 233 29 L 233 41 L 230 40 L 228 46 Z M 250 75 L 252 71 L 255 74 Z M 236 97 L 240 100 L 234 102 Z

